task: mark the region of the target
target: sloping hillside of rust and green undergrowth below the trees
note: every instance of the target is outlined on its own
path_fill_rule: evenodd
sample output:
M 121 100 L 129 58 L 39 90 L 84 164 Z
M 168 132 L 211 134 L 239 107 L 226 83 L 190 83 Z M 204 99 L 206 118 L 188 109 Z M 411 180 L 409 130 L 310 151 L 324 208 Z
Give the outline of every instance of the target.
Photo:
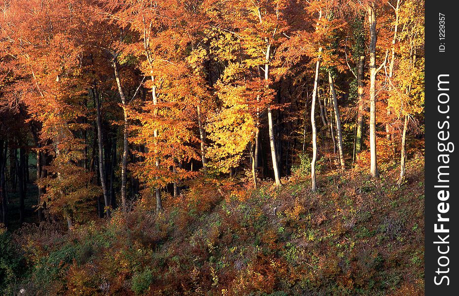
M 109 222 L 29 225 L 15 243 L 36 295 L 423 295 L 424 158 L 272 181 L 199 179 Z

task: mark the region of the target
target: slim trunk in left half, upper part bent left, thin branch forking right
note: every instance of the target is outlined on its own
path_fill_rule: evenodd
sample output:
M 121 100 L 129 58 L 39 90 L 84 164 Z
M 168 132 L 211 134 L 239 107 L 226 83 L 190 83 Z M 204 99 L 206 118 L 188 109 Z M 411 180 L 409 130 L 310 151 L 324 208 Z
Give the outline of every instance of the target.
M 114 58 L 116 59 L 116 58 Z M 126 212 L 126 184 L 127 184 L 127 166 L 128 166 L 128 151 L 129 151 L 129 142 L 128 142 L 128 114 L 127 114 L 127 101 L 126 96 L 124 95 L 123 88 L 121 86 L 121 81 L 119 78 L 118 64 L 116 61 L 113 61 L 113 69 L 115 71 L 115 80 L 118 86 L 118 92 L 121 97 L 121 103 L 123 104 L 123 114 L 124 114 L 124 128 L 123 128 L 123 156 L 121 161 L 121 203 L 123 204 L 123 211 Z

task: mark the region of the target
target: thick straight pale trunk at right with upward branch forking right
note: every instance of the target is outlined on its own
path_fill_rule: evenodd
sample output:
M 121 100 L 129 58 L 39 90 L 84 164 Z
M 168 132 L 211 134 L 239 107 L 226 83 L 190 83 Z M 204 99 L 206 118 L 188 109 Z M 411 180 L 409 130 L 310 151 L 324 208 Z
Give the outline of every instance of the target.
M 376 15 L 374 4 L 368 5 L 368 24 L 370 27 L 370 174 L 378 177 L 378 165 L 376 159 L 376 75 L 386 65 L 387 54 L 384 63 L 376 68 Z

